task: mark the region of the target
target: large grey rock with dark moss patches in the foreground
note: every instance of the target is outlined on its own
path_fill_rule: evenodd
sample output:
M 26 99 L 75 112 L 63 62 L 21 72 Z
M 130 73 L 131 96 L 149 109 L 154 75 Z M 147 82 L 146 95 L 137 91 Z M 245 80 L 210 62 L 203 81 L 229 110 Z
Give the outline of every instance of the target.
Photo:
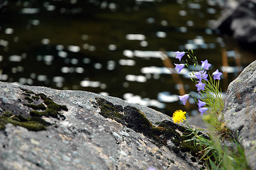
M 1 169 L 201 169 L 188 131 L 119 98 L 0 82 Z

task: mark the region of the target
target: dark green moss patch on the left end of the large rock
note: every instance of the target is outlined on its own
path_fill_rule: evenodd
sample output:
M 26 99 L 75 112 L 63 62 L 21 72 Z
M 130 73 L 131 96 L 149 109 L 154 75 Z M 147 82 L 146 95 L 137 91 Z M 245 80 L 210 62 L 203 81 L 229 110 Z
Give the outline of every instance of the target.
M 7 123 L 33 131 L 46 130 L 48 125 L 51 124 L 43 120 L 42 116 L 65 120 L 65 115 L 62 115 L 60 111 L 67 111 L 67 106 L 58 105 L 45 94 L 35 94 L 27 89 L 21 90 L 23 91 L 24 100 L 20 98 L 18 101 L 23 101 L 23 105 L 28 106 L 32 111 L 29 112 L 29 115 L 24 111 L 16 113 L 4 111 L 0 114 L 0 130 L 4 130 Z

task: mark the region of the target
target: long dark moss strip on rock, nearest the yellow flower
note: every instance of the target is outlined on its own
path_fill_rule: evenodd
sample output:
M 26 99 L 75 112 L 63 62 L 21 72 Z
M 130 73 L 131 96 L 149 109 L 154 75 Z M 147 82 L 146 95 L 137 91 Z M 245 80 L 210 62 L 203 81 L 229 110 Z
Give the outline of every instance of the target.
M 104 98 L 96 98 L 96 105 L 101 109 L 101 115 L 105 118 L 111 118 L 118 123 L 126 125 L 128 128 L 141 132 L 149 137 L 156 145 L 167 145 L 171 140 L 174 144 L 172 149 L 175 153 L 189 152 L 194 157 L 199 157 L 199 147 L 195 147 L 193 142 L 185 142 L 191 139 L 191 131 L 183 126 L 164 120 L 157 123 L 157 127 L 145 117 L 145 114 L 132 106 L 118 106 L 106 101 Z

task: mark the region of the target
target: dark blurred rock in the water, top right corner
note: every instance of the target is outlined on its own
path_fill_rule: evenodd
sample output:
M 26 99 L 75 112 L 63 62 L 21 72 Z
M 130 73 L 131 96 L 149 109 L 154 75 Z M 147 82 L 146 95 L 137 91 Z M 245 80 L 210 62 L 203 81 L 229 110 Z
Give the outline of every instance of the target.
M 226 1 L 223 6 L 226 10 L 216 22 L 216 28 L 233 35 L 243 47 L 255 50 L 256 1 Z

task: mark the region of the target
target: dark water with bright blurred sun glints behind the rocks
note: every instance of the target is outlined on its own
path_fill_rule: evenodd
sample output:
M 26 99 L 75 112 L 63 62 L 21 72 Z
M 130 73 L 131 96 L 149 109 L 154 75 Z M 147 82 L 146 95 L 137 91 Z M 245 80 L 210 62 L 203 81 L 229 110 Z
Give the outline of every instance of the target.
M 4 1 L 0 8 L 1 81 L 117 96 L 167 115 L 184 106 L 161 50 L 178 63 L 175 51 L 193 49 L 211 72 L 226 70 L 223 91 L 254 60 L 211 29 L 221 15 L 213 0 Z M 187 93 L 196 91 L 189 72 L 179 75 Z

